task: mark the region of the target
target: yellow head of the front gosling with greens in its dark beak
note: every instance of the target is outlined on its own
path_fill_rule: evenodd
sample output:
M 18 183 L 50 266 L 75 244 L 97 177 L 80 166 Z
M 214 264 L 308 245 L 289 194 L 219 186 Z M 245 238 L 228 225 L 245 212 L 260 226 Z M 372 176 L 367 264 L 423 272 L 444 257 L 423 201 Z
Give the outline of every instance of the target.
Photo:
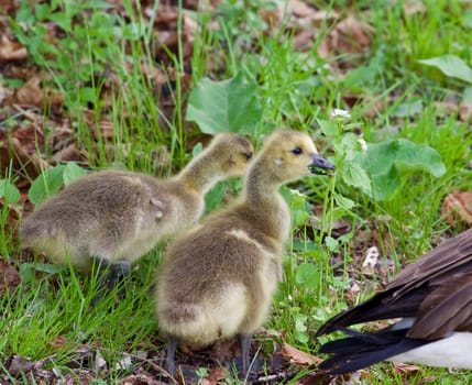
M 288 183 L 309 174 L 329 174 L 334 166 L 318 154 L 304 132 L 277 130 L 265 141 L 257 157 L 275 183 Z

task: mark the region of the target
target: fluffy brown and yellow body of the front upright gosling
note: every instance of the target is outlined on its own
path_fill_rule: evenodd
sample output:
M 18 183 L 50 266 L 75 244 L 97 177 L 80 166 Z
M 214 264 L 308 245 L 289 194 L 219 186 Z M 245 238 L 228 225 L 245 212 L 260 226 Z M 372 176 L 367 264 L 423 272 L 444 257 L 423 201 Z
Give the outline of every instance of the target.
M 284 220 L 278 229 L 259 228 L 239 206 L 172 244 L 157 282 L 163 330 L 206 345 L 262 326 L 282 279 L 289 217 L 282 205 L 277 211 Z

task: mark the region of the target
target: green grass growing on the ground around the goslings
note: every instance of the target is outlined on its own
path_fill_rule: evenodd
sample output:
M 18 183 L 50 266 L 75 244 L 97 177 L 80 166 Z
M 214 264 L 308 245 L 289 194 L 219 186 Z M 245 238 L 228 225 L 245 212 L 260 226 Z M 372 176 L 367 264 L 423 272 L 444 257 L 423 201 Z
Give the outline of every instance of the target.
M 80 16 L 81 8 L 64 3 L 70 15 Z M 336 178 L 307 178 L 303 184 L 290 186 L 306 196 L 286 193 L 294 216 L 301 219 L 287 245 L 286 279 L 274 299 L 274 310 L 266 328 L 277 333 L 285 331 L 288 343 L 314 354 L 319 346 L 314 337 L 318 326 L 351 305 L 344 297 L 344 288 L 353 279 L 349 267 L 360 266 L 353 260 L 356 245 L 353 231 L 338 242 L 329 243 L 318 232 L 312 235 L 310 226 L 303 226 L 310 205 L 325 205 L 319 219 L 327 228 L 343 218 L 353 229 L 376 230 L 382 255 L 392 257 L 395 270 L 399 270 L 430 250 L 440 234 L 457 232 L 440 219 L 442 199 L 448 193 L 472 187 L 472 173 L 468 168 L 472 157 L 470 127 L 461 122 L 457 113 L 443 113 L 437 108 L 438 102 L 451 97 L 461 100 L 468 85 L 418 63 L 419 59 L 449 53 L 470 64 L 470 26 L 466 26 L 466 13 L 462 11 L 460 1 L 426 1 L 425 11 L 409 15 L 402 2 L 388 2 L 388 7 L 386 2 L 374 2 L 367 14 L 363 11 L 370 3 L 361 1 L 353 6 L 349 1 L 333 1 L 332 9 L 341 16 L 359 14 L 375 32 L 371 32 L 370 50 L 342 54 L 329 61 L 318 57 L 316 48 L 334 26 L 332 20 L 321 24 L 310 50 L 296 52 L 293 50 L 294 33 L 287 32 L 285 21 L 271 33 L 261 32 L 264 20 L 257 10 L 272 9 L 273 4 L 268 2 L 251 2 L 251 6 L 242 1 L 230 2 L 220 4 L 220 16 L 208 12 L 197 14 L 201 31 L 195 36 L 191 58 L 194 85 L 209 75 L 226 79 L 240 70 L 255 80 L 263 106 L 263 118 L 254 130 L 255 143 L 261 142 L 261 134 L 276 127 L 290 127 L 316 133 L 321 152 L 331 156 L 337 165 L 349 162 L 343 161 L 345 154 L 334 151 L 333 144 L 340 143 L 344 134 L 339 131 L 333 136 L 322 136 L 320 122 L 330 120 L 333 108 L 348 109 L 343 97 L 350 95 L 355 96 L 356 102 L 350 109 L 351 120 L 345 124 L 362 129 L 365 141 L 374 143 L 402 138 L 425 143 L 438 151 L 447 167 L 446 174 L 438 178 L 422 172 L 402 174 L 400 188 L 387 201 L 373 200 L 347 184 L 340 175 Z M 168 97 L 175 110 L 171 114 L 163 113 L 161 84 L 143 68 L 146 65 L 166 74 L 169 65 L 155 63 L 153 47 L 156 36 L 151 24 L 131 11 L 130 2 L 124 6 L 131 14 L 129 22 L 103 12 L 100 7 L 89 7 L 90 16 L 75 28 L 70 26 L 63 41 L 69 50 L 61 52 L 56 62 L 47 58 L 46 54 L 55 50 L 41 40 L 45 32 L 41 30 L 42 19 L 37 11 L 36 31 L 25 33 L 20 40 L 29 47 L 45 81 L 63 92 L 64 114 L 70 119 L 76 142 L 89 154 L 87 161 L 94 168 L 121 166 L 168 175 L 188 161 L 191 151 L 188 143 L 198 130 L 185 124 L 187 90 L 178 76 L 175 90 Z M 327 6 L 320 7 L 328 10 Z M 22 9 L 19 21 L 32 20 L 29 9 Z M 47 19 L 46 11 L 44 19 Z M 220 28 L 209 29 L 210 20 L 217 20 Z M 178 25 L 182 29 L 182 20 Z M 177 53 L 169 52 L 168 63 L 182 73 L 182 44 Z M 341 74 L 337 67 L 341 63 L 351 64 L 351 68 Z M 331 73 L 327 65 L 334 66 L 337 70 Z M 110 72 L 116 82 L 106 75 Z M 105 98 L 106 94 L 109 97 Z M 400 105 L 418 100 L 421 102 L 419 113 L 395 116 Z M 384 108 L 373 108 L 375 102 L 382 102 Z M 91 116 L 85 114 L 87 107 Z M 43 112 L 47 118 L 50 108 L 45 106 Z M 98 129 L 103 120 L 113 128 L 111 150 L 106 150 L 106 140 L 94 135 L 90 130 Z M 52 129 L 46 128 L 45 132 L 51 134 Z M 168 148 L 169 162 L 164 165 L 153 153 L 162 145 Z M 46 147 L 45 155 L 50 154 L 51 148 Z M 8 177 L 15 180 L 14 175 Z M 240 185 L 224 186 L 238 189 Z M 222 195 L 221 187 L 210 193 L 210 207 L 219 206 L 216 200 Z M 334 196 L 350 199 L 354 206 L 341 207 Z M 21 251 L 11 234 L 6 232 L 6 207 L 1 213 L 1 253 L 19 265 L 15 256 Z M 378 220 L 381 216 L 388 220 L 382 222 Z M 388 246 L 391 241 L 394 249 Z M 344 261 L 341 274 L 330 263 L 333 253 Z M 124 352 L 163 348 L 156 345 L 157 322 L 149 295 L 160 255 L 161 251 L 156 250 L 141 263 L 139 276 L 135 275 L 130 283 L 123 300 L 117 304 L 113 296 L 107 296 L 91 311 L 89 304 L 97 294 L 94 278 L 63 271 L 61 274 L 40 272 L 28 280 L 23 279 L 15 293 L 0 299 L 0 330 L 7 331 L 0 334 L 0 362 L 13 354 L 33 361 L 51 356 L 50 365 L 66 372 L 66 364 L 75 352 L 87 346 L 94 352 L 99 351 L 108 363 L 107 373 L 98 375 L 101 381 L 117 381 L 131 373 L 132 369 L 116 369 Z M 308 271 L 311 274 L 308 283 L 300 280 L 299 266 L 304 264 L 316 267 Z M 372 283 L 381 280 L 381 277 L 355 278 L 361 279 L 362 287 L 354 301 L 369 297 Z M 65 339 L 59 346 L 55 344 L 58 337 Z M 4 372 L 2 366 L 1 372 Z M 403 384 L 405 378 L 415 384 L 427 376 L 441 378 L 443 384 L 454 384 L 470 376 L 466 372 L 451 373 L 429 367 L 422 367 L 420 374 L 402 375 L 386 363 L 367 372 L 371 374 L 367 382 L 372 384 Z

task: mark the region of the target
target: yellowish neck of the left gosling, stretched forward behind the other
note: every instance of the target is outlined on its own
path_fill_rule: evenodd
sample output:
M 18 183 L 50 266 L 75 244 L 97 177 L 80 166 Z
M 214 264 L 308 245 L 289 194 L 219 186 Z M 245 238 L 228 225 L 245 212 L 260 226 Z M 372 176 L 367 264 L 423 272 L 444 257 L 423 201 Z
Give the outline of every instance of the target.
M 218 182 L 223 179 L 223 175 L 215 167 L 215 160 L 202 153 L 178 174 L 177 179 L 187 188 L 206 194 Z

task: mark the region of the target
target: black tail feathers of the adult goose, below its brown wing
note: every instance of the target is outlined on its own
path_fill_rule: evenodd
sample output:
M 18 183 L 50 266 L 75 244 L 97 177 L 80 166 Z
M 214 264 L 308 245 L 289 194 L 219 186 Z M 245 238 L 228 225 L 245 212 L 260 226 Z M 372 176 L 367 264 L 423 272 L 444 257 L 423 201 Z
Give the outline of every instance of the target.
M 383 329 L 375 333 L 344 330 L 351 337 L 325 343 L 320 352 L 332 354 L 319 367 L 329 374 L 344 374 L 387 360 L 432 341 L 406 338 L 408 329 Z

